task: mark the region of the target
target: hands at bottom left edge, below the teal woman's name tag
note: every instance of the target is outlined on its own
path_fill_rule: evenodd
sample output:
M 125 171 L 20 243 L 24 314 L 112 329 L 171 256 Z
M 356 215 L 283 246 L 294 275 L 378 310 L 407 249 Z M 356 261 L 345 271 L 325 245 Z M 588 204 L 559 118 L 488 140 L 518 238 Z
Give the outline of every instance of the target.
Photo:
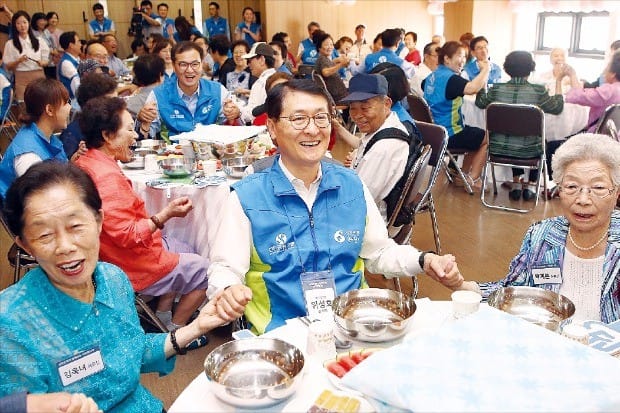
M 82 393 L 46 393 L 26 396 L 28 412 L 98 413 L 97 403 Z

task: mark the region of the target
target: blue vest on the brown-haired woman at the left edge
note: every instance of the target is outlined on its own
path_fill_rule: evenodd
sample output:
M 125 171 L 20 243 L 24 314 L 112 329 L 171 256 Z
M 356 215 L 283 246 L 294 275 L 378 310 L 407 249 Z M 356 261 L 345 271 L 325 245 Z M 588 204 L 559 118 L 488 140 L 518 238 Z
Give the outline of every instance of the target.
M 0 162 L 0 195 L 5 197 L 9 186 L 17 178 L 13 163 L 15 158 L 25 153 L 34 153 L 42 160 L 55 159 L 60 162 L 68 162 L 67 155 L 62 149 L 62 142 L 52 135 L 48 142 L 43 136 L 43 132 L 36 123 L 23 126 L 4 154 Z

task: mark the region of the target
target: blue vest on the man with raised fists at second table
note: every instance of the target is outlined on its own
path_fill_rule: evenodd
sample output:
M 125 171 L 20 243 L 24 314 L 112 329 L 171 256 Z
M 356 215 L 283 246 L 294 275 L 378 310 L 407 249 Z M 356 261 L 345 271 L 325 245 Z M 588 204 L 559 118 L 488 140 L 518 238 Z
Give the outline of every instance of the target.
M 196 124 L 211 125 L 216 123 L 222 108 L 222 85 L 211 80 L 200 79 L 198 104 L 194 115 L 187 109 L 179 97 L 177 82 L 172 78 L 153 89 L 157 98 L 159 117 L 166 125 L 170 136 L 194 130 Z

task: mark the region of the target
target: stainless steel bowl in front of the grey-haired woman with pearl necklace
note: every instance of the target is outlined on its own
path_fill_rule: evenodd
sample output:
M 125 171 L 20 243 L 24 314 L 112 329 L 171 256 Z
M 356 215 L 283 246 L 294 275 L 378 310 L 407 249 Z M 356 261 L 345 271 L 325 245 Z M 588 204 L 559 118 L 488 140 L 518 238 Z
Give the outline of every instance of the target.
M 489 295 L 488 304 L 552 331 L 560 331 L 575 314 L 571 300 L 536 287 L 500 288 Z

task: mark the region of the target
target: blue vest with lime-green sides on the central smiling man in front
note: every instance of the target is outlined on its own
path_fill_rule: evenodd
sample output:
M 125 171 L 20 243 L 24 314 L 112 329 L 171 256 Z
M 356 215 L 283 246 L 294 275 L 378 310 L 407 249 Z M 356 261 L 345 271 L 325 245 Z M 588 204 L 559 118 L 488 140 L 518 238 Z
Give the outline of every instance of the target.
M 271 167 L 232 186 L 252 226 L 245 283 L 253 298 L 245 316 L 259 334 L 306 314 L 302 271 L 331 267 L 336 295 L 366 287 L 359 258 L 366 201 L 359 177 L 350 169 L 321 162 L 323 177 L 308 211 L 279 159 L 278 155 Z

